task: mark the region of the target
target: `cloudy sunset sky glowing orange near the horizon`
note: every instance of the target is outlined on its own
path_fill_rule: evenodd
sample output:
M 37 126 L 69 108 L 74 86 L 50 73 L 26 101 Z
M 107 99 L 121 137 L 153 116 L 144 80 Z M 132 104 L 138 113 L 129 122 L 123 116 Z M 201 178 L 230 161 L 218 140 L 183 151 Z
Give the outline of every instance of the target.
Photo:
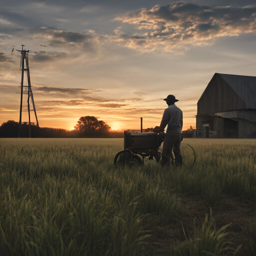
M 173 94 L 184 130 L 215 72 L 255 75 L 255 42 L 254 0 L 0 0 L 0 123 L 19 120 L 21 44 L 40 127 L 154 127 Z

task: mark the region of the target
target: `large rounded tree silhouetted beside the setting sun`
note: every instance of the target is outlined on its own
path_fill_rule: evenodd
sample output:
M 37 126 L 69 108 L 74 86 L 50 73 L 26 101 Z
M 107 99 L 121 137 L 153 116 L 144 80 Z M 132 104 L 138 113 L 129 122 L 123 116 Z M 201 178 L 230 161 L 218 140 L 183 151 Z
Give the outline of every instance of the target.
M 87 115 L 80 117 L 74 128 L 82 131 L 87 137 L 104 135 L 109 132 L 111 127 L 106 122 L 98 120 L 95 116 Z

